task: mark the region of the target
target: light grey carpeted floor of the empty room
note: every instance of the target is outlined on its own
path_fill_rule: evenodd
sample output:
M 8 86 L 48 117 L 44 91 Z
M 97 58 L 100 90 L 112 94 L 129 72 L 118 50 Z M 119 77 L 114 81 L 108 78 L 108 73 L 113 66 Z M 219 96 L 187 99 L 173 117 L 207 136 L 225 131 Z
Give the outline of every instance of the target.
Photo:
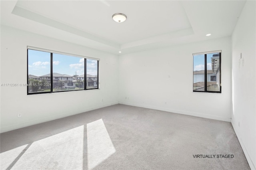
M 250 169 L 230 123 L 120 104 L 0 137 L 1 170 Z

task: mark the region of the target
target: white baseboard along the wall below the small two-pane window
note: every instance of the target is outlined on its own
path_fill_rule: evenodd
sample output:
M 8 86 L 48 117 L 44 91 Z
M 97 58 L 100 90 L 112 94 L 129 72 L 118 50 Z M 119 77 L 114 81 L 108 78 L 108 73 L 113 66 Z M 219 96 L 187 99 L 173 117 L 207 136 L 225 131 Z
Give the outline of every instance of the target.
M 204 114 L 201 114 L 201 113 L 194 113 L 194 112 L 188 112 L 188 111 L 168 109 L 168 108 L 164 108 L 164 107 L 142 105 L 142 104 L 137 104 L 137 103 L 128 103 L 128 102 L 123 102 L 123 101 L 119 101 L 119 104 L 136 106 L 136 107 L 143 107 L 143 108 L 147 108 L 147 109 L 155 109 L 155 110 L 159 110 L 159 111 L 166 111 L 166 112 L 172 112 L 172 113 L 178 113 L 178 114 L 182 114 L 182 115 L 202 117 L 202 118 L 207 118 L 207 119 L 214 119 L 214 120 L 218 120 L 218 121 L 225 121 L 225 122 L 230 122 L 231 121 L 231 118 L 218 117 L 218 116 L 213 116 L 213 115 L 204 115 Z

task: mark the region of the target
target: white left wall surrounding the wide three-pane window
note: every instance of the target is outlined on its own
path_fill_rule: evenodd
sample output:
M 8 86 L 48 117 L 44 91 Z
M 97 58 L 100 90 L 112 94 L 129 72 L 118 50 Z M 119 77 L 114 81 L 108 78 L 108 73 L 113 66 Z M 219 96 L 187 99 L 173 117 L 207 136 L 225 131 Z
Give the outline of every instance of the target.
M 99 58 L 100 89 L 27 95 L 27 87 L 1 87 L 1 132 L 118 103 L 117 55 L 5 26 L 1 26 L 1 83 L 27 82 L 27 45 Z

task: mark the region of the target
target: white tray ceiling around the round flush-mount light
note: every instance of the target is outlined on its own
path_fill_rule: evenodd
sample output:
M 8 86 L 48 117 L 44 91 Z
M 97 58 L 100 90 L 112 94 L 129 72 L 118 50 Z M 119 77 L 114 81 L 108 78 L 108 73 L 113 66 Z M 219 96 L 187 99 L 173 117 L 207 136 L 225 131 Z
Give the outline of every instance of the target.
M 231 36 L 245 1 L 0 1 L 1 25 L 114 54 Z M 127 20 L 117 23 L 115 13 Z M 212 36 L 205 35 L 211 33 Z

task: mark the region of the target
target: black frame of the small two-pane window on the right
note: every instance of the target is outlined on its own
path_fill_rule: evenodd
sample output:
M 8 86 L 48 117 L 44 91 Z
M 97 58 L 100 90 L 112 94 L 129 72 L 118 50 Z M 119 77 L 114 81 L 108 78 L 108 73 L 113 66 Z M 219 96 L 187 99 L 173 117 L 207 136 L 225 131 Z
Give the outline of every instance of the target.
M 208 91 L 207 90 L 207 54 L 211 54 L 211 53 L 219 53 L 220 54 L 220 74 L 219 74 L 219 83 L 220 83 L 220 89 L 219 91 Z M 199 90 L 194 90 L 194 55 L 204 55 L 204 91 L 199 91 Z M 218 51 L 210 51 L 210 52 L 203 52 L 203 53 L 194 53 L 192 55 L 193 57 L 193 92 L 202 92 L 202 93 L 221 93 L 221 54 L 222 51 L 218 50 Z M 216 81 L 217 81 L 217 77 L 216 77 Z

